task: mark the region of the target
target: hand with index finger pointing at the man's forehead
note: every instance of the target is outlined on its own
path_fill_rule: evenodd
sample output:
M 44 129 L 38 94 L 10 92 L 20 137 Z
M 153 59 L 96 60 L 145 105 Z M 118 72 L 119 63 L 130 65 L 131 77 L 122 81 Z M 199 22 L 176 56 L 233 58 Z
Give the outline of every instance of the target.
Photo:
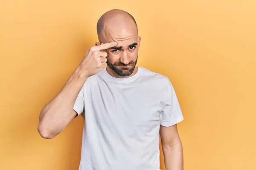
M 102 51 L 117 45 L 117 42 L 109 42 L 101 45 L 95 45 L 91 47 L 81 63 L 79 64 L 80 71 L 85 74 L 86 77 L 97 74 L 101 68 L 107 67 L 107 52 Z

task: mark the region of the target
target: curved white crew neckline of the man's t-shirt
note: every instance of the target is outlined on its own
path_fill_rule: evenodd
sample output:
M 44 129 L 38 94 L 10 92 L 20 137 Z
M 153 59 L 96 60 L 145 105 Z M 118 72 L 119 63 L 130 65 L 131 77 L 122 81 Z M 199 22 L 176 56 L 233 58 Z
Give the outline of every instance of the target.
M 103 68 L 102 70 L 102 76 L 104 76 L 106 79 L 112 81 L 112 82 L 116 82 L 116 83 L 128 83 L 128 82 L 132 82 L 134 81 L 135 79 L 137 79 L 140 74 L 142 72 L 142 68 L 141 67 L 138 67 L 138 71 L 137 73 L 135 73 L 133 76 L 131 77 L 127 77 L 127 78 L 117 78 L 117 77 L 113 77 L 111 76 L 108 71 L 107 71 L 107 68 Z

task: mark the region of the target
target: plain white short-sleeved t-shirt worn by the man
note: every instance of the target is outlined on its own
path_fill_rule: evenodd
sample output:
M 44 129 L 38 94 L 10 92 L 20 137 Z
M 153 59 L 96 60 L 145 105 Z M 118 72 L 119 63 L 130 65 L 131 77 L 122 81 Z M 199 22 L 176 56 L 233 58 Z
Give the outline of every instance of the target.
M 81 88 L 73 108 L 84 119 L 79 170 L 159 170 L 160 125 L 183 115 L 168 77 L 138 68 L 128 78 L 103 68 Z

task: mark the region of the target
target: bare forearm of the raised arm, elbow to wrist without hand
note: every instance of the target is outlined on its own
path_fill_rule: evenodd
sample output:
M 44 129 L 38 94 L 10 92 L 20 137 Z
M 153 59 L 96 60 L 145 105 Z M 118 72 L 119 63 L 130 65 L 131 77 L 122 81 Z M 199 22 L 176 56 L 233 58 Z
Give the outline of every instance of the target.
M 86 80 L 87 77 L 80 73 L 79 68 L 77 68 L 61 91 L 44 106 L 39 116 L 38 125 L 41 136 L 52 138 L 70 123 L 74 118 L 72 115 L 73 106 Z

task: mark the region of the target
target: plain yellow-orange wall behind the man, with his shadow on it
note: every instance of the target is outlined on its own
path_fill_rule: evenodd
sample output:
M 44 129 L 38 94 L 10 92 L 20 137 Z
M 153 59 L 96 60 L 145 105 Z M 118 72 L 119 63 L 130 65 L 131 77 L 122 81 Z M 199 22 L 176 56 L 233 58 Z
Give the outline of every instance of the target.
M 1 0 L 0 169 L 78 170 L 81 116 L 50 140 L 38 116 L 113 8 L 137 20 L 137 65 L 174 85 L 184 169 L 256 170 L 255 0 Z

